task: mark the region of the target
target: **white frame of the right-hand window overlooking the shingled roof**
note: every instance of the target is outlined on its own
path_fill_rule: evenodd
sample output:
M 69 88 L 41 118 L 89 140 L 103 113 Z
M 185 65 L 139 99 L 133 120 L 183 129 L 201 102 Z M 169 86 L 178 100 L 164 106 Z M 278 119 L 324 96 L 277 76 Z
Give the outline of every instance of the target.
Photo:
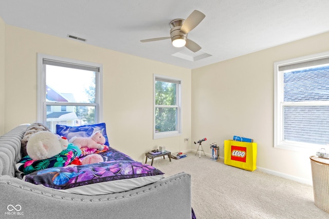
M 287 149 L 292 151 L 314 151 L 323 148 L 324 145 L 303 143 L 295 141 L 284 141 L 284 106 L 328 106 L 329 101 L 305 101 L 305 102 L 284 102 L 284 71 L 280 71 L 279 67 L 288 65 L 299 65 L 317 59 L 329 58 L 329 52 L 307 55 L 297 58 L 291 58 L 284 61 L 274 63 L 274 147 Z M 317 66 L 317 65 L 312 65 Z M 309 66 L 309 67 L 312 67 Z

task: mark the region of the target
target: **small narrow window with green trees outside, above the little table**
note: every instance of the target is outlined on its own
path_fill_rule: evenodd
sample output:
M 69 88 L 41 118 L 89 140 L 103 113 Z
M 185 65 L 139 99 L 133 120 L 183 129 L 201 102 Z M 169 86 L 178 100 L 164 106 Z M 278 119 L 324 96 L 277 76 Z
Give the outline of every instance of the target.
M 154 139 L 181 133 L 180 86 L 179 79 L 154 75 Z

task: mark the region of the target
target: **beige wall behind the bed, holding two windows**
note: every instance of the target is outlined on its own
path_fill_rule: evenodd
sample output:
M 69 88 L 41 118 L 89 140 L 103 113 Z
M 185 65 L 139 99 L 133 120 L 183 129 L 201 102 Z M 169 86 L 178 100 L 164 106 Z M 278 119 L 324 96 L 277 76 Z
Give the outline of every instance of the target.
M 166 146 L 166 149 L 172 152 L 190 150 L 190 145 L 184 142 L 184 138 L 191 136 L 191 70 L 90 46 L 71 39 L 10 25 L 5 27 L 5 131 L 22 123 L 38 122 L 36 61 L 37 53 L 44 53 L 103 64 L 101 122 L 106 123 L 111 146 L 139 161 L 144 160 L 145 152 L 160 145 Z M 1 33 L 0 42 L 3 35 Z M 2 56 L 0 53 L 0 58 Z M 181 136 L 153 140 L 154 73 L 182 80 Z

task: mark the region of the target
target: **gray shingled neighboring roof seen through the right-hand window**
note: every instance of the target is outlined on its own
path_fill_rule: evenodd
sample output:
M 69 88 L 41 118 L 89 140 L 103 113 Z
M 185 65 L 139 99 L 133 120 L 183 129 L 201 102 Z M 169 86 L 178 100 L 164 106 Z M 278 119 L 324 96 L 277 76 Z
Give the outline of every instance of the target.
M 329 66 L 284 74 L 284 101 L 329 101 Z M 329 106 L 286 106 L 284 140 L 329 144 Z

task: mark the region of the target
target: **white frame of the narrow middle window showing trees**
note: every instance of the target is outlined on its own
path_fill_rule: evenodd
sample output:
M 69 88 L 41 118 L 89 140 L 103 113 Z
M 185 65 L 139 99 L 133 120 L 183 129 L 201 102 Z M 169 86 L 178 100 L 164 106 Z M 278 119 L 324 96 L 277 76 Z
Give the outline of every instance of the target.
M 156 81 L 161 81 L 157 79 L 163 79 L 167 82 L 177 82 L 177 89 L 176 89 L 176 105 L 168 106 L 168 105 L 155 105 L 155 83 Z M 165 138 L 165 137 L 173 137 L 173 136 L 179 136 L 181 135 L 181 84 L 182 81 L 179 78 L 165 76 L 165 75 L 159 75 L 159 74 L 153 74 L 153 139 L 158 138 Z M 170 107 L 170 108 L 177 108 L 177 131 L 167 131 L 167 132 L 156 132 L 155 129 L 155 112 L 156 107 Z

